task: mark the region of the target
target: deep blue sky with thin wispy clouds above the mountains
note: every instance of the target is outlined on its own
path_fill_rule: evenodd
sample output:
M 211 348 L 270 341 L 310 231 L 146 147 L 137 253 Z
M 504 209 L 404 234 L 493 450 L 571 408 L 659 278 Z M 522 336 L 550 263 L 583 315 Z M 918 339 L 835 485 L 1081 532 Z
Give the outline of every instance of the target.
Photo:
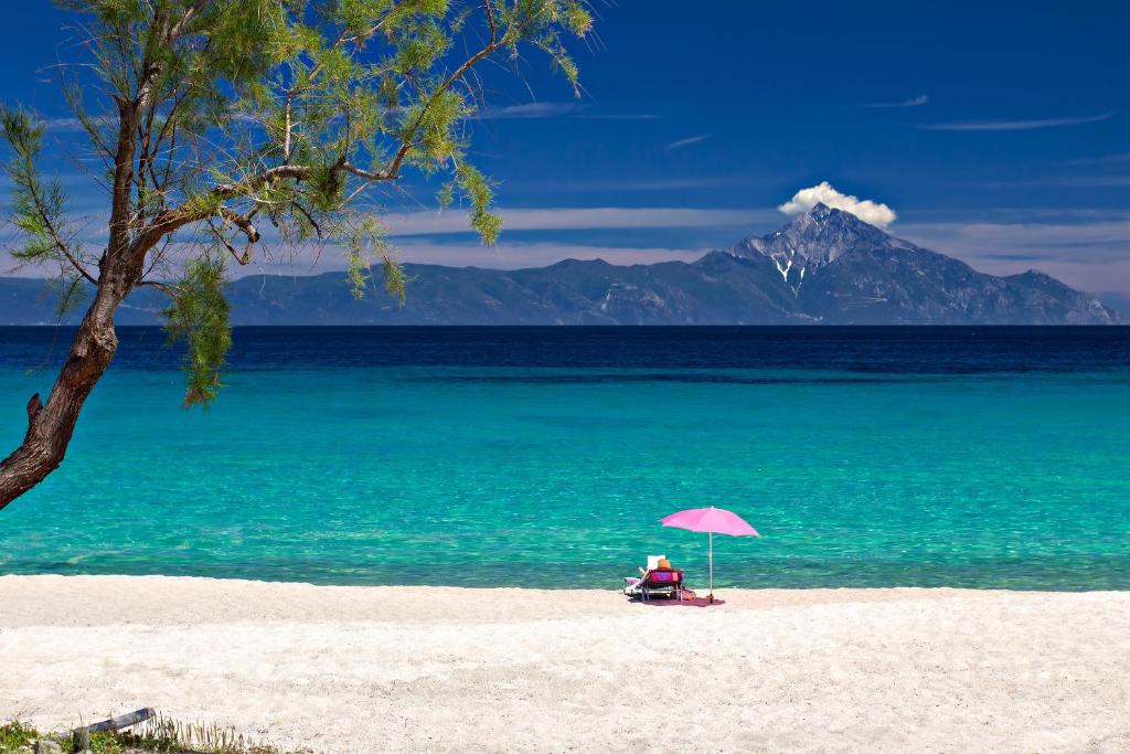
M 1130 3 L 594 9 L 593 38 L 575 45 L 580 98 L 532 53 L 521 80 L 486 79 L 489 106 L 469 127 L 473 158 L 501 182 L 499 244 L 478 245 L 458 210 L 434 210 L 436 187 L 410 179 L 389 206 L 401 260 L 692 260 L 824 197 L 979 270 L 1035 268 L 1130 296 Z M 26 0 L 6 18 L 18 33 L 0 47 L 0 96 L 66 118 L 50 66 L 67 14 Z

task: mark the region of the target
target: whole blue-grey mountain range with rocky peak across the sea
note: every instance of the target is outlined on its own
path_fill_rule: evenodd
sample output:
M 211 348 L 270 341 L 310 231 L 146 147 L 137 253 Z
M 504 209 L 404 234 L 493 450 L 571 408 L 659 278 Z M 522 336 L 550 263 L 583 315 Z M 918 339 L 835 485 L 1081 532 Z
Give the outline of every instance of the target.
M 565 260 L 493 270 L 406 265 L 408 302 L 360 301 L 341 272 L 231 284 L 236 324 L 1112 324 L 1095 298 L 1042 272 L 996 277 L 824 205 L 695 262 Z M 37 280 L 0 279 L 0 323 L 54 322 Z M 131 296 L 121 324 L 165 305 Z M 77 321 L 78 314 L 64 321 Z

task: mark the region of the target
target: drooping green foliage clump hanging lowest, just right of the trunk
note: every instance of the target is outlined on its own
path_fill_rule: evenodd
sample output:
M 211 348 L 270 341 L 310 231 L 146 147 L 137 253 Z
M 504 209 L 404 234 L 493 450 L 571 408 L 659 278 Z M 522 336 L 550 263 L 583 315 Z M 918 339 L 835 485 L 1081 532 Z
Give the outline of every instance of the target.
M 225 268 L 210 257 L 192 260 L 176 284 L 173 304 L 163 312 L 171 343 L 188 346 L 184 405 L 208 407 L 220 388 L 220 370 L 232 347 L 232 326 L 224 297 Z

